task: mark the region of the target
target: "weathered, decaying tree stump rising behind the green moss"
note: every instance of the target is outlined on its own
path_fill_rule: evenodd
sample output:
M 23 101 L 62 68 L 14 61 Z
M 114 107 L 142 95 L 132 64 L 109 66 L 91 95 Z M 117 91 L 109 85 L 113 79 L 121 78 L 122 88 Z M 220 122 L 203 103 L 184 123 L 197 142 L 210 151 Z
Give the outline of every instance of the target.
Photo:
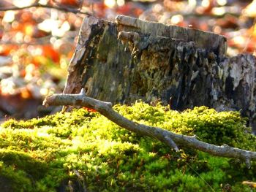
M 225 55 L 218 34 L 119 15 L 88 17 L 69 64 L 64 93 L 116 103 L 162 101 L 173 110 L 206 105 L 241 110 L 255 124 L 253 55 Z

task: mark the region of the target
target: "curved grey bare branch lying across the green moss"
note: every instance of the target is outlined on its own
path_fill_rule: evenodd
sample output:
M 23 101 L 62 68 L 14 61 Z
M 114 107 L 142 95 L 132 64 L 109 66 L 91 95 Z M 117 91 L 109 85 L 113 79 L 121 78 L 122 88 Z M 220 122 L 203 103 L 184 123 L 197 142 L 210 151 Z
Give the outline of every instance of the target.
M 148 137 L 156 138 L 161 142 L 165 142 L 169 147 L 178 150 L 177 145 L 191 147 L 211 155 L 217 155 L 227 158 L 239 158 L 245 161 L 246 166 L 250 167 L 250 161 L 256 160 L 256 152 L 249 150 L 241 150 L 236 147 L 228 145 L 211 145 L 206 142 L 201 142 L 195 136 L 189 137 L 186 135 L 175 134 L 162 128 L 145 126 L 143 124 L 135 123 L 132 120 L 124 118 L 118 112 L 113 110 L 110 102 L 99 101 L 86 96 L 85 92 L 81 91 L 79 94 L 53 94 L 45 98 L 43 105 L 72 105 L 83 106 L 97 110 L 109 120 L 118 124 L 122 128 L 133 131 L 137 134 L 146 135 Z

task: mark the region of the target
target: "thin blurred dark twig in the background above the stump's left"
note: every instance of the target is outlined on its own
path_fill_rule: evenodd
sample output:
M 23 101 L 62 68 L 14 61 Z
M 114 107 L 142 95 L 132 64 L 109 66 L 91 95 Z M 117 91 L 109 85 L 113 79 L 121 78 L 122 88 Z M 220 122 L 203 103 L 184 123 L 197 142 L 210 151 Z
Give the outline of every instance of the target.
M 50 9 L 58 9 L 63 12 L 72 12 L 72 13 L 80 13 L 83 15 L 91 15 L 89 12 L 82 12 L 79 9 L 70 8 L 70 7 L 61 7 L 56 5 L 50 5 L 50 4 L 39 4 L 38 2 L 35 2 L 34 4 L 30 4 L 28 6 L 24 7 L 0 7 L 0 11 L 14 11 L 14 10 L 21 10 L 21 9 L 29 9 L 31 7 L 42 7 L 42 8 L 50 8 Z

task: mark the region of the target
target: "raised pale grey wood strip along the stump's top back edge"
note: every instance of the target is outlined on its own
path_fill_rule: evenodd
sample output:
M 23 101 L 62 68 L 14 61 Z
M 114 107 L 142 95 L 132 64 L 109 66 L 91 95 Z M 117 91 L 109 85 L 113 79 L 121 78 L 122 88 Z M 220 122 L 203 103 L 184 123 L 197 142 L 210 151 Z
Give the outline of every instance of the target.
M 166 26 L 162 23 L 148 22 L 124 15 L 116 17 L 118 31 L 139 31 L 151 37 L 167 37 L 180 39 L 183 42 L 195 42 L 195 47 L 214 51 L 217 55 L 225 55 L 227 39 L 211 32 L 200 31 L 180 26 Z

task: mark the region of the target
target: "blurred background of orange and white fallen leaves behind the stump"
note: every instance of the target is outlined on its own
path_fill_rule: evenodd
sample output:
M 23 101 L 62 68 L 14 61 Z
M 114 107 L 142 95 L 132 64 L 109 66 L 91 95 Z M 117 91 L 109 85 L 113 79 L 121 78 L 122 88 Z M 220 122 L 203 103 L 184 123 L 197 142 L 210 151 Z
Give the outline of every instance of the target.
M 53 112 L 42 100 L 63 91 L 87 15 L 212 31 L 227 37 L 227 55 L 256 55 L 256 0 L 1 0 L 0 121 Z

